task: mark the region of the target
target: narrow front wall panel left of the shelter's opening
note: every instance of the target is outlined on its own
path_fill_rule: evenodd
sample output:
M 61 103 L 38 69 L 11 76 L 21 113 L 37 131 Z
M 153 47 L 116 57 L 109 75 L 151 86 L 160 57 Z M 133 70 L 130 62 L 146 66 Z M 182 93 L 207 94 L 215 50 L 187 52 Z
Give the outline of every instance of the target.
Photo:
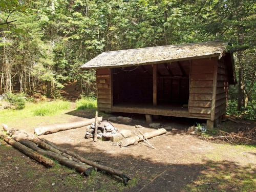
M 96 69 L 97 104 L 99 111 L 111 111 L 111 70 Z

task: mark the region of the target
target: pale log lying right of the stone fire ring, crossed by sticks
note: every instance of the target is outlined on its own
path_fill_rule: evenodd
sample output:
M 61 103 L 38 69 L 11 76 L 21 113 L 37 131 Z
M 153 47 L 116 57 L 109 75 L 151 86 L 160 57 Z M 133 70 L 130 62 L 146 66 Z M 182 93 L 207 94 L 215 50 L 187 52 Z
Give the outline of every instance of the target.
M 149 133 L 144 133 L 144 136 L 147 138 L 147 139 L 150 139 L 152 137 L 156 137 L 156 136 L 159 136 L 159 135 L 162 135 L 162 134 L 165 134 L 167 131 L 163 128 L 161 129 L 158 129 L 158 130 L 154 130 L 152 132 L 149 132 Z M 141 137 L 139 136 L 133 136 L 133 137 L 128 137 L 128 138 L 125 138 L 125 139 L 122 139 L 120 141 L 120 146 L 124 147 L 124 146 L 129 146 L 129 145 L 132 145 L 132 144 L 135 144 L 137 142 L 140 142 L 140 141 L 143 141 L 143 136 L 141 135 Z

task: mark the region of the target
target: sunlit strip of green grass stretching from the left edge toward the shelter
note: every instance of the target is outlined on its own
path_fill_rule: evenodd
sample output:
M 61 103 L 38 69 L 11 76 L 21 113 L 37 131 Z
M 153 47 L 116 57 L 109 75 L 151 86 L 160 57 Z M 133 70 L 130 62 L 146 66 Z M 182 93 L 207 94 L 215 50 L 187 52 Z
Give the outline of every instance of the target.
M 38 103 L 27 102 L 23 110 L 1 110 L 0 123 L 13 122 L 33 116 L 50 116 L 69 108 L 70 102 L 61 100 Z

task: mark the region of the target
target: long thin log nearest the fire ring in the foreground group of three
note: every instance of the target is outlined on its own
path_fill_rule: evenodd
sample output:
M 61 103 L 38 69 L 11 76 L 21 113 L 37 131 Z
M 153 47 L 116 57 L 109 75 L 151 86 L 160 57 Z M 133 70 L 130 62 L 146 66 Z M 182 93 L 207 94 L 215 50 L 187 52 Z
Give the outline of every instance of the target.
M 81 161 L 83 163 L 91 165 L 92 167 L 95 167 L 98 170 L 101 170 L 101 171 L 104 171 L 104 172 L 109 173 L 111 175 L 116 175 L 116 176 L 122 178 L 124 184 L 127 184 L 127 182 L 129 180 L 131 180 L 131 178 L 129 176 L 127 176 L 125 173 L 123 173 L 121 170 L 114 169 L 114 168 L 111 168 L 111 167 L 108 167 L 108 166 L 105 166 L 105 165 L 101 165 L 101 164 L 95 163 L 95 162 L 93 162 L 89 159 L 83 158 L 82 156 L 80 156 L 80 155 L 78 155 L 78 154 L 76 154 L 72 151 L 66 150 L 66 149 L 61 148 L 59 146 L 56 146 L 54 143 L 48 141 L 47 139 L 42 139 L 42 140 L 44 140 L 47 144 L 51 145 L 52 147 L 57 148 L 59 151 L 64 152 L 66 154 L 69 154 L 69 155 L 75 157 L 76 159 L 78 159 L 79 161 Z

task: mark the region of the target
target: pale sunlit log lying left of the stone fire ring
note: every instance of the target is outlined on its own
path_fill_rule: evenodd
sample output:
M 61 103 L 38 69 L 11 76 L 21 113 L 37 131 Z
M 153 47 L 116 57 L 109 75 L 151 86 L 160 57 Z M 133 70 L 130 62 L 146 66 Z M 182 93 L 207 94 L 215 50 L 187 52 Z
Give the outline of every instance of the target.
M 102 121 L 102 117 L 98 117 L 98 122 Z M 46 134 L 52 134 L 60 131 L 75 129 L 78 127 L 86 126 L 89 124 L 92 124 L 95 122 L 95 118 L 83 120 L 83 121 L 77 121 L 72 123 L 61 123 L 61 124 L 53 124 L 48 126 L 41 126 L 34 129 L 34 133 L 36 135 L 46 135 Z

